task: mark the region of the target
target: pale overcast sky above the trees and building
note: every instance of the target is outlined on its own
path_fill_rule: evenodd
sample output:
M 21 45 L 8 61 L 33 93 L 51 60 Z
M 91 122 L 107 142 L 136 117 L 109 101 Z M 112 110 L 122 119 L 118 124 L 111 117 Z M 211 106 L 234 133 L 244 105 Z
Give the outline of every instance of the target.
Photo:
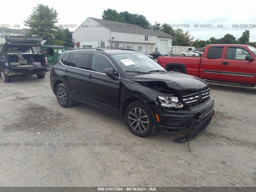
M 152 24 L 178 25 L 184 32 L 190 32 L 195 40 L 207 40 L 212 36 L 221 38 L 227 33 L 239 38 L 242 32 L 250 30 L 250 42 L 256 42 L 255 0 L 4 0 L 1 2 L 0 26 L 14 28 L 20 25 L 24 28 L 24 20 L 33 7 L 41 3 L 58 12 L 59 24 L 79 26 L 88 17 L 101 19 L 103 11 L 111 8 L 141 14 Z M 190 28 L 180 26 L 182 24 L 189 24 Z M 196 27 L 198 24 L 211 28 Z M 76 28 L 69 29 L 74 31 Z

